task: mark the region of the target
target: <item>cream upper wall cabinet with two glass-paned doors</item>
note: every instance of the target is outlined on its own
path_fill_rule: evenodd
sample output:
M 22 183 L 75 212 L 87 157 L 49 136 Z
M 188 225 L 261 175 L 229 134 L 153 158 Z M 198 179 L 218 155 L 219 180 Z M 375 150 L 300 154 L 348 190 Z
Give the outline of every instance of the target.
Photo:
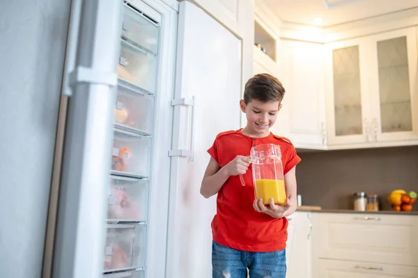
M 415 27 L 327 44 L 325 75 L 329 146 L 418 144 Z

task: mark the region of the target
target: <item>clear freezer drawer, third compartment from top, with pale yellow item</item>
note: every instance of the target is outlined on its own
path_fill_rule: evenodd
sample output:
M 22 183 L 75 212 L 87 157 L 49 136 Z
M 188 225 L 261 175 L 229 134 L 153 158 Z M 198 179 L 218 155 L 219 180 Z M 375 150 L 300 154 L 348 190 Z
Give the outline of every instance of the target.
M 145 134 L 153 131 L 154 98 L 151 95 L 135 93 L 123 84 L 118 86 L 115 123 L 134 128 Z

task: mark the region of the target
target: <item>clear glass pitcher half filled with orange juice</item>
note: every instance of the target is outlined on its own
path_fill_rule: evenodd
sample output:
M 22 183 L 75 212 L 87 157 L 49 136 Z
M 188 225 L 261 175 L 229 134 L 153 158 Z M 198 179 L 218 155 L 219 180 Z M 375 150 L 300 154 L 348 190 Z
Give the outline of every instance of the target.
M 256 199 L 263 198 L 268 205 L 270 198 L 279 206 L 286 206 L 283 165 L 280 146 L 261 144 L 251 148 L 250 160 Z

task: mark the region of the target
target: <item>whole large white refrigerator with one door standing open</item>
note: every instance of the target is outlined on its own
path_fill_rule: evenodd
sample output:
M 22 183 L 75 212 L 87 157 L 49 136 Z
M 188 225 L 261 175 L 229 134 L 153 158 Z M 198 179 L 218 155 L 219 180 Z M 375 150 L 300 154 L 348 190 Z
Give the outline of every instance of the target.
M 72 1 L 45 278 L 211 277 L 199 187 L 241 76 L 242 40 L 194 3 Z

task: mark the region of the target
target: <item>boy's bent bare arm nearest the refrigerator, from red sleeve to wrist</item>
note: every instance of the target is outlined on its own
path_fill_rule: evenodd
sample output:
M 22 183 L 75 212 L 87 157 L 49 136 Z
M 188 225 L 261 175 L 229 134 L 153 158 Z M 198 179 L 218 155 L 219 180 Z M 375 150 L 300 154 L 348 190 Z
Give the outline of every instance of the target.
M 215 158 L 210 157 L 208 167 L 201 183 L 201 194 L 206 199 L 217 194 L 222 185 L 228 180 L 229 173 L 221 168 Z

